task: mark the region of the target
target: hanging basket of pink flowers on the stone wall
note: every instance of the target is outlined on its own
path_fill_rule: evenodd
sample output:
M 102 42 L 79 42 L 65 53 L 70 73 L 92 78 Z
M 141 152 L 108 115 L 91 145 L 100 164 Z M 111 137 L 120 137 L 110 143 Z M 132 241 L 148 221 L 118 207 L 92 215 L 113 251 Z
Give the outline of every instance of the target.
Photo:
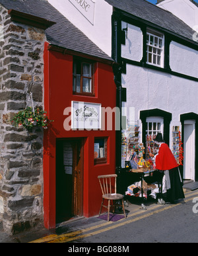
M 15 127 L 24 127 L 27 130 L 32 130 L 34 126 L 41 126 L 44 129 L 48 128 L 49 120 L 46 116 L 46 111 L 36 108 L 34 111 L 32 107 L 27 107 L 24 110 L 20 110 L 12 120 L 12 124 Z

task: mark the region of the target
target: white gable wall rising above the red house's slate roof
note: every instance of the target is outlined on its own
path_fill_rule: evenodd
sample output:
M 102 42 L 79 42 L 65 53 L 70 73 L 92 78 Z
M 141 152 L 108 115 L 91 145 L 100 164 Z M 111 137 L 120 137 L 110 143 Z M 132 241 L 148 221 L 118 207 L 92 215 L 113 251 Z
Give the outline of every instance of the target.
M 79 1 L 79 0 L 78 0 Z M 48 0 L 63 16 L 79 28 L 94 44 L 108 56 L 112 56 L 112 12 L 111 5 L 104 0 L 89 0 L 95 3 L 93 24 L 71 3 L 75 0 Z M 83 2 L 83 1 L 82 1 Z M 92 10 L 91 10 L 92 11 Z M 84 14 L 84 15 L 83 15 Z

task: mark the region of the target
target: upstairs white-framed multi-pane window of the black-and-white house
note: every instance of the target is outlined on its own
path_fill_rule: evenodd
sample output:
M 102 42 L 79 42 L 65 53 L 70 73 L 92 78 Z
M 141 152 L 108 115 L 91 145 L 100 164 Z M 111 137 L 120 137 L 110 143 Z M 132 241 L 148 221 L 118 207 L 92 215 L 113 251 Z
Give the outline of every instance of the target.
M 147 64 L 164 67 L 164 35 L 147 29 Z

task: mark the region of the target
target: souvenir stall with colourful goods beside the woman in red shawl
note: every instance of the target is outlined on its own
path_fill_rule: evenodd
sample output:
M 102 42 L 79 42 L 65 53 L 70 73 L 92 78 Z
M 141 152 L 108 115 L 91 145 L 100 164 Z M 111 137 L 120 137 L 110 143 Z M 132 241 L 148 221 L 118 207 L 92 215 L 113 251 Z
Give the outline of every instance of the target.
M 154 138 L 147 136 L 145 148 L 139 143 L 139 126 L 130 126 L 127 130 L 128 136 L 123 137 L 125 146 L 125 171 L 134 175 L 135 183 L 127 187 L 125 196 L 140 197 L 143 210 L 147 210 L 144 201 L 148 194 L 154 199 L 158 197 L 158 203 L 165 204 L 162 199 L 162 178 L 164 173 L 155 169 L 153 159 L 150 159 L 149 153 L 157 153 L 158 148 L 154 144 Z M 136 176 L 135 176 L 136 175 Z

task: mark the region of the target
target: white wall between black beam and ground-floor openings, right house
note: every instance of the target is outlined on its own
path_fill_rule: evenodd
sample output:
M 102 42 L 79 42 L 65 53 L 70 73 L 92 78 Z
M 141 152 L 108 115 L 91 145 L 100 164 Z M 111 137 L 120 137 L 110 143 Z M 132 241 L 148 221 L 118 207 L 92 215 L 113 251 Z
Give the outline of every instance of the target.
M 127 103 L 123 107 L 135 108 L 135 120 L 139 120 L 141 110 L 159 108 L 172 113 L 171 129 L 172 126 L 181 125 L 180 114 L 198 114 L 198 83 L 195 81 L 127 65 L 127 73 L 122 75 L 122 85 L 127 88 Z

